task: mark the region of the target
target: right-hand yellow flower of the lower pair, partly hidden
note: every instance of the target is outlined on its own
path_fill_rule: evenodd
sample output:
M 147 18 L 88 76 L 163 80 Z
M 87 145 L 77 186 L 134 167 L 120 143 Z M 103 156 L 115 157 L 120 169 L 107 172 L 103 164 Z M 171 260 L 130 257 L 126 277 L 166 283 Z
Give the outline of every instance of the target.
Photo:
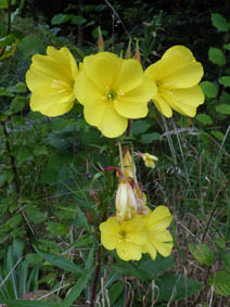
M 142 216 L 148 241 L 142 245 L 142 253 L 149 253 L 154 260 L 156 252 L 168 257 L 174 246 L 173 238 L 167 227 L 171 222 L 171 215 L 167 207 L 158 206 L 152 213 Z

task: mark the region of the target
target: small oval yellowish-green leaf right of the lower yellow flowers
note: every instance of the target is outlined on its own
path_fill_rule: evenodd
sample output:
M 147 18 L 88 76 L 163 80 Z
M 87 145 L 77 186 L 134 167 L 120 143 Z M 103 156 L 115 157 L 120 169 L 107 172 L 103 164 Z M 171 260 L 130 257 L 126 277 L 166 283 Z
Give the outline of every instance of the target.
M 214 263 L 215 254 L 209 247 L 207 247 L 203 243 L 199 243 L 196 245 L 189 244 L 189 250 L 193 257 L 199 261 L 201 265 L 210 266 Z

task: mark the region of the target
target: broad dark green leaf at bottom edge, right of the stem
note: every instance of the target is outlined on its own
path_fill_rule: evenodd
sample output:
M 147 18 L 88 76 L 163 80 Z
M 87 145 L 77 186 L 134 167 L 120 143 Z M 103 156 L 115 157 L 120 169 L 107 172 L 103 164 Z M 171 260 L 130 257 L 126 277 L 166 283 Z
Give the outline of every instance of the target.
M 191 278 L 182 278 L 181 276 L 165 274 L 159 281 L 156 281 L 159 290 L 157 302 L 176 302 L 182 300 L 201 291 L 203 284 Z

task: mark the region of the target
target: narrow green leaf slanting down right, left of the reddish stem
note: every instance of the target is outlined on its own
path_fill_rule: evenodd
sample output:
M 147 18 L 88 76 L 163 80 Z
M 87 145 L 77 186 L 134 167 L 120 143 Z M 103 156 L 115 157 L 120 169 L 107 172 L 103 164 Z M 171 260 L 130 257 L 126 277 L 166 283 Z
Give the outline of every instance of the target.
M 82 272 L 81 268 L 79 268 L 77 265 L 75 265 L 74 263 L 69 261 L 68 259 L 64 257 L 41 252 L 37 250 L 36 247 L 35 250 L 39 256 L 41 256 L 44 260 L 52 264 L 53 266 L 56 266 L 58 268 L 61 268 L 65 271 L 72 272 L 77 276 L 79 276 Z

